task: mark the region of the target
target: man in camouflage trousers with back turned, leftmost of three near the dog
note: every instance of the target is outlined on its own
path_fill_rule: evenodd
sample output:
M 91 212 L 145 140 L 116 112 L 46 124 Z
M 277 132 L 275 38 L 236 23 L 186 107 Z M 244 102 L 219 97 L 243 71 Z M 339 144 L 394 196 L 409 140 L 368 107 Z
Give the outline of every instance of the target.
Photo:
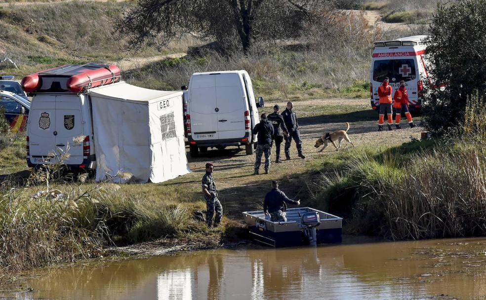
M 265 174 L 268 174 L 270 168 L 270 149 L 272 148 L 272 137 L 274 135 L 273 126 L 267 119 L 267 114 L 262 113 L 260 123 L 253 128 L 253 134 L 258 135 L 258 144 L 256 145 L 256 159 L 255 159 L 255 173 L 258 175 L 258 170 L 262 164 L 262 154 L 265 153 Z

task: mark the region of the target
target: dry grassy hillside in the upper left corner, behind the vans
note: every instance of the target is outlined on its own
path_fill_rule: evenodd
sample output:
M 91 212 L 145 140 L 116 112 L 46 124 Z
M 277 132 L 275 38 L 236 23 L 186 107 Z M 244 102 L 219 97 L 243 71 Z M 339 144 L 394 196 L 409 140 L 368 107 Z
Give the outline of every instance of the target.
M 0 6 L 0 72 L 17 76 L 64 64 L 116 62 L 127 56 L 150 57 L 185 52 L 201 41 L 189 35 L 164 49 L 125 53 L 114 38 L 114 22 L 130 2 L 69 1 Z M 64 20 L 59 26 L 59 20 Z M 81 26 L 82 24 L 82 26 Z

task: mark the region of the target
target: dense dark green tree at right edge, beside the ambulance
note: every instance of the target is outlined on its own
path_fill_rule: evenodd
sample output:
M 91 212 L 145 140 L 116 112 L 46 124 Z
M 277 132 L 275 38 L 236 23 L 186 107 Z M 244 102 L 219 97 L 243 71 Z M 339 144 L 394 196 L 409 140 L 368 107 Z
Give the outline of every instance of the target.
M 486 91 L 486 0 L 439 3 L 430 26 L 424 122 L 442 134 L 464 121 L 467 99 Z

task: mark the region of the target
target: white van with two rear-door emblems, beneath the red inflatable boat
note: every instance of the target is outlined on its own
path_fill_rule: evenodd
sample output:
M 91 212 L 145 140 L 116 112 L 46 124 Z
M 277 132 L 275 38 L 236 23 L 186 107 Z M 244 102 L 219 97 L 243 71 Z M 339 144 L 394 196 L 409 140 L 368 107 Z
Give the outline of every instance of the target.
M 79 136 L 85 136 L 84 141 L 74 143 L 73 138 Z M 89 96 L 34 94 L 27 122 L 27 164 L 39 167 L 58 162 L 63 151 L 70 155 L 63 161 L 68 167 L 96 168 Z

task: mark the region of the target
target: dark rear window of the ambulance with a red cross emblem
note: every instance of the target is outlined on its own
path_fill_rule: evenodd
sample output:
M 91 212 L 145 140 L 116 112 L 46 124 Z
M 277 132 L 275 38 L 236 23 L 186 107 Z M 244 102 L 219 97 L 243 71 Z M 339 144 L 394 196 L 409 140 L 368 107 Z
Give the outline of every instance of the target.
M 390 83 L 401 80 L 410 81 L 417 77 L 413 59 L 377 60 L 373 64 L 373 80 L 383 81 L 390 78 Z

